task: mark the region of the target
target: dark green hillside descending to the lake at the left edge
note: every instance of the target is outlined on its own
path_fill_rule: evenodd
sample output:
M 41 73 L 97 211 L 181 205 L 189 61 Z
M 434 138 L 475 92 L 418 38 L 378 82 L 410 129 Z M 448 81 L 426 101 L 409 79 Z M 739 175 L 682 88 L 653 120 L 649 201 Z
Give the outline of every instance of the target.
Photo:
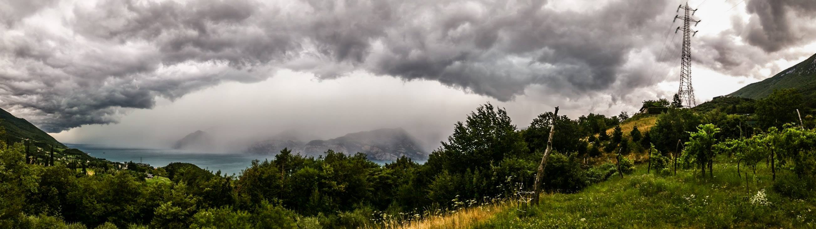
M 6 132 L 11 136 L 12 141 L 28 138 L 47 145 L 65 147 L 65 145 L 55 140 L 54 137 L 43 132 L 40 128 L 35 127 L 32 123 L 29 123 L 29 121 L 17 118 L 6 110 L 0 109 L 0 119 L 2 119 L 0 125 L 6 127 Z

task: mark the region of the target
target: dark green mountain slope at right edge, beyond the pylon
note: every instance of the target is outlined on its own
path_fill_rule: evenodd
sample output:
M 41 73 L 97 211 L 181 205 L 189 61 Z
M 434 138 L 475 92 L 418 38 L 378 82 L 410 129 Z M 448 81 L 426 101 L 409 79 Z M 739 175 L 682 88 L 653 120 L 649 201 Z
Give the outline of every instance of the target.
M 748 84 L 728 95 L 760 99 L 774 92 L 774 89 L 799 89 L 805 97 L 816 96 L 816 54 L 774 77 Z

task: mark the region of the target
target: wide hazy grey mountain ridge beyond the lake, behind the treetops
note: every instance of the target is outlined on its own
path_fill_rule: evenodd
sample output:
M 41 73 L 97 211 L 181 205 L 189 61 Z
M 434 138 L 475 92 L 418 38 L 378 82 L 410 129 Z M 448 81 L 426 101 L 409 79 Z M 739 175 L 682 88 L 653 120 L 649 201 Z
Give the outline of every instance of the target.
M 402 128 L 383 128 L 370 132 L 355 132 L 330 140 L 262 140 L 247 148 L 251 153 L 274 154 L 281 149 L 292 149 L 308 156 L 322 155 L 329 149 L 348 154 L 366 153 L 373 160 L 396 160 L 402 156 L 427 159 L 428 154 L 419 148 L 417 141 Z

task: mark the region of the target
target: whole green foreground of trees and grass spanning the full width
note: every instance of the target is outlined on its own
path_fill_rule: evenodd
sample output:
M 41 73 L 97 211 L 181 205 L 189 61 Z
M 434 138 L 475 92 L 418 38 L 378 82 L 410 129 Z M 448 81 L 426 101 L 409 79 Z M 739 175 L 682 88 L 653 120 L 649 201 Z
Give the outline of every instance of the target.
M 284 149 L 239 175 L 29 160 L 25 145 L 0 143 L 0 227 L 812 227 L 816 121 L 795 115 L 807 108 L 800 97 L 777 90 L 734 105 L 751 115 L 667 101 L 665 113 L 635 117 L 548 111 L 524 130 L 486 104 L 424 164 Z

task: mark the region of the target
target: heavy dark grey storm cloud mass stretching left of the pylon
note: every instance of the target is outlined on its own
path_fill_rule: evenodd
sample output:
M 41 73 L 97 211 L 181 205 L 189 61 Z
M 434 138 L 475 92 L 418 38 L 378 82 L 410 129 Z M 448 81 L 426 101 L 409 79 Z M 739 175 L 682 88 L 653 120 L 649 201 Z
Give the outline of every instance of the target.
M 601 93 L 617 102 L 663 81 L 676 64 L 658 54 L 674 3 L 593 2 L 586 11 L 549 3 L 0 3 L 0 11 L 15 12 L 2 17 L 0 106 L 60 132 L 115 123 L 122 108 L 151 108 L 157 97 L 265 80 L 282 68 L 320 79 L 368 71 L 436 80 L 500 101 L 536 85 L 548 96 Z M 718 42 L 707 47 L 721 57 L 700 63 L 730 69 L 746 61 Z

